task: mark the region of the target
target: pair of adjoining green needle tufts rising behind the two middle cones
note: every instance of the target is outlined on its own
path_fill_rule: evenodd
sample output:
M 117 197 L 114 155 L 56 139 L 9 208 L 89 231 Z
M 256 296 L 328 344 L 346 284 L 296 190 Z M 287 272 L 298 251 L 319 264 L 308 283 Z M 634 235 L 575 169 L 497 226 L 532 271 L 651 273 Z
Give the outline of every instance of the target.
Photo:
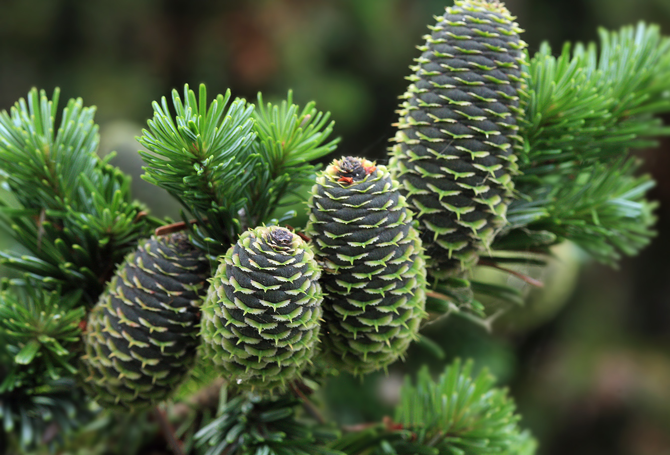
M 314 103 L 300 111 L 290 92 L 279 106 L 263 106 L 260 94 L 258 107 L 239 98 L 230 103 L 228 90 L 208 107 L 206 96 L 204 84 L 197 99 L 188 84 L 183 101 L 173 90 L 174 119 L 165 97 L 154 102 L 139 138 L 149 152 L 139 153 L 147 163 L 143 178 L 196 216 L 194 242 L 216 255 L 245 229 L 269 222 L 314 172 L 308 161 L 332 151 L 337 140 L 322 145 L 333 128 L 329 115 Z

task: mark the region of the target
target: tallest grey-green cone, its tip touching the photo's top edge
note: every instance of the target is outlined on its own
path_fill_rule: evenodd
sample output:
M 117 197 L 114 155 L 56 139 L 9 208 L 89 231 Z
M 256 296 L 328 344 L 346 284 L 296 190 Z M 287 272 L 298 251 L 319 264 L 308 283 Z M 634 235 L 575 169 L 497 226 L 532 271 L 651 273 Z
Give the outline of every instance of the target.
M 429 27 L 391 150 L 436 276 L 472 267 L 505 222 L 521 147 L 525 43 L 497 0 L 456 0 Z

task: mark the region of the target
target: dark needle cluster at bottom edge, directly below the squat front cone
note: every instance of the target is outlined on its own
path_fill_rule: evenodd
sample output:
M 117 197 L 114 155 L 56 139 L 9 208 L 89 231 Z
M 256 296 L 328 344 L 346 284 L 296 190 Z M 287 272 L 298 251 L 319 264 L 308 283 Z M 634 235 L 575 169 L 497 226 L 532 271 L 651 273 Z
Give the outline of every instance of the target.
M 197 444 L 204 455 L 345 455 L 324 447 L 336 433 L 299 419 L 298 404 L 291 397 L 240 395 L 196 434 Z

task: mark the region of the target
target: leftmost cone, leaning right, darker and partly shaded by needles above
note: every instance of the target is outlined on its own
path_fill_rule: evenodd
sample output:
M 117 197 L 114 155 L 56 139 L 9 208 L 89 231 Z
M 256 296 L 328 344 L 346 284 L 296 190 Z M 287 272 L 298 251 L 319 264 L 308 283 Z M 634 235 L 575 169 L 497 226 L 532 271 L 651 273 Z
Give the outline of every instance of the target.
M 184 379 L 198 346 L 210 263 L 184 233 L 143 241 L 88 316 L 84 387 L 100 405 L 139 409 Z

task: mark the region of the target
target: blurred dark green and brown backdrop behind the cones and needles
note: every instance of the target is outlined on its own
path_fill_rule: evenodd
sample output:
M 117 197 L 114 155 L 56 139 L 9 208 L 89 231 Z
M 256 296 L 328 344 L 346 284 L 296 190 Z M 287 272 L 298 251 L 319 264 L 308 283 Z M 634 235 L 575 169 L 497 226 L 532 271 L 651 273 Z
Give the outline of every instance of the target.
M 639 20 L 670 35 L 670 0 L 509 0 L 531 52 L 543 40 L 596 40 L 596 28 Z M 211 96 L 285 96 L 332 113 L 337 153 L 383 159 L 415 46 L 450 0 L 0 0 L 0 109 L 32 86 L 96 105 L 100 153 L 135 175 L 160 216 L 167 196 L 139 179 L 139 135 L 151 101 L 188 82 Z M 670 120 L 670 119 L 667 119 Z M 451 318 L 430 336 L 508 385 L 541 454 L 670 454 L 670 141 L 639 153 L 659 182 L 659 235 L 612 270 L 569 245 L 534 291 L 488 334 Z M 0 239 L 1 240 L 1 239 Z M 417 348 L 410 359 L 442 369 Z M 405 368 L 411 369 L 413 365 Z M 366 389 L 365 393 L 362 390 Z M 332 412 L 379 419 L 393 376 L 340 381 Z M 364 395 L 364 396 L 363 396 Z M 364 399 L 369 397 L 369 399 Z M 381 401 L 380 401 L 381 400 Z M 351 403 L 357 403 L 354 407 Z

